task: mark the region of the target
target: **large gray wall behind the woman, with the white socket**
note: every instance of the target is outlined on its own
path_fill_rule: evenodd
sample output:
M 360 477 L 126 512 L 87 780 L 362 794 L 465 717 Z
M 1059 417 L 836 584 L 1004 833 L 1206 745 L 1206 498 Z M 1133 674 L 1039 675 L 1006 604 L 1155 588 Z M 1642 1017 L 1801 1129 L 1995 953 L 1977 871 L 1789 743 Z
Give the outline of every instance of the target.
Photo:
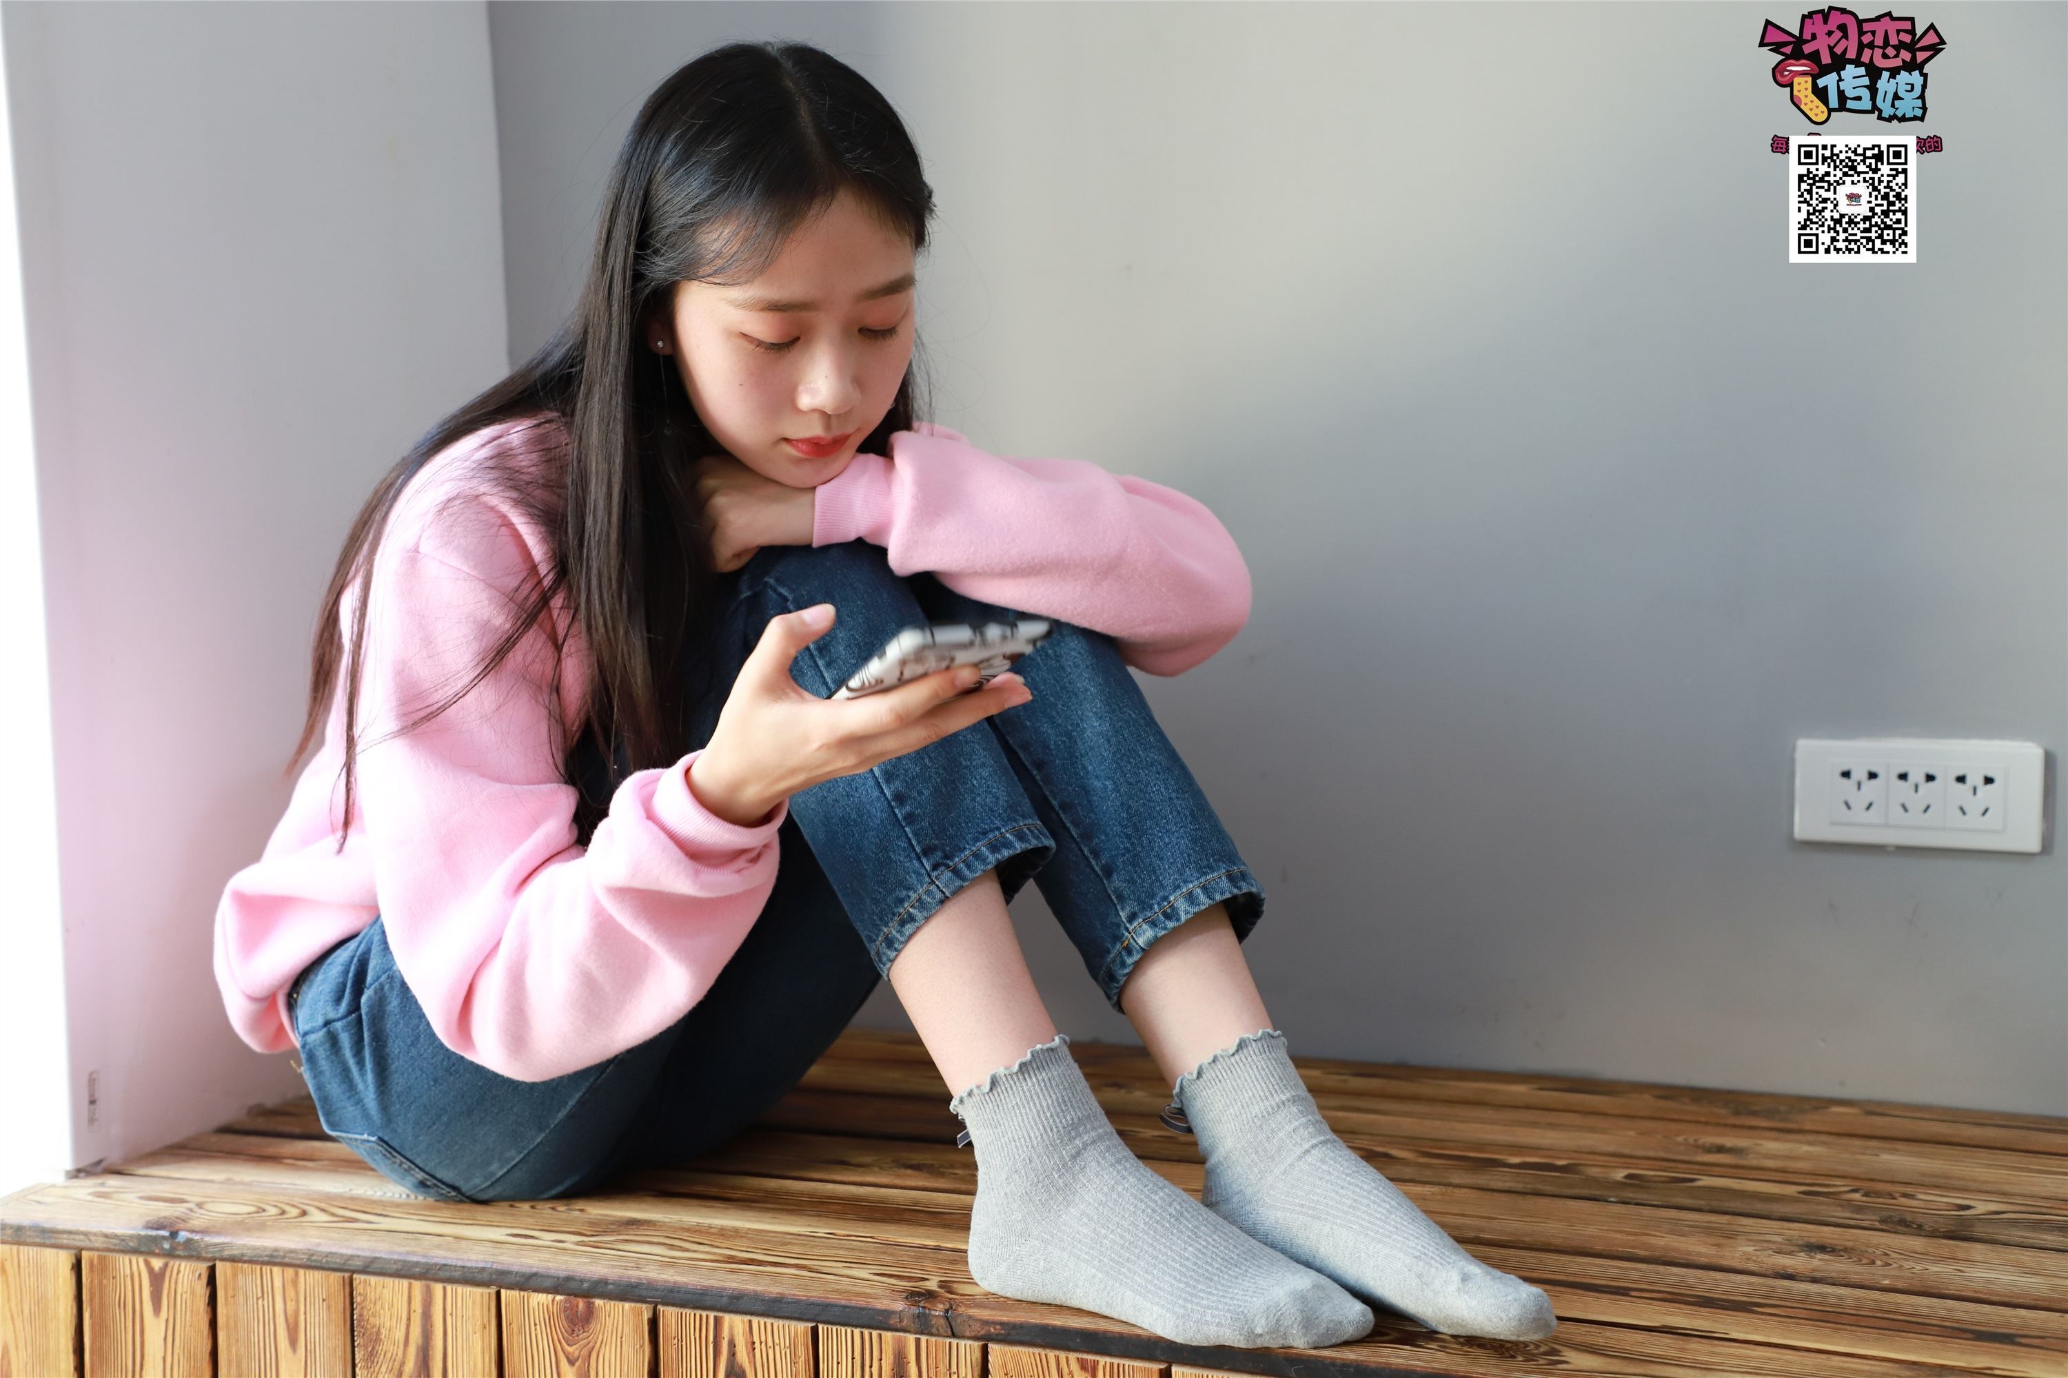
M 1927 14 L 1911 267 L 1787 262 L 1768 10 L 492 4 L 511 355 L 645 93 L 815 41 L 939 194 L 939 419 L 1249 560 L 1144 688 L 1295 1052 L 2068 1114 L 2051 841 L 1789 837 L 1799 735 L 2062 748 L 2068 10 Z M 1131 1039 L 1015 909 L 1059 1025 Z

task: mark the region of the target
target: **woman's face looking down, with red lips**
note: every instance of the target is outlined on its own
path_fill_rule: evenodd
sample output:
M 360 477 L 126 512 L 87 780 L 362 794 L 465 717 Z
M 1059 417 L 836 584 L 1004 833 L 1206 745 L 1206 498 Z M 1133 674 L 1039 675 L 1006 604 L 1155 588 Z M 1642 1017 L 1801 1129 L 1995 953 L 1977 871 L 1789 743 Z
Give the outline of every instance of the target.
M 676 283 L 647 345 L 666 343 L 728 455 L 778 483 L 817 488 L 891 409 L 912 362 L 914 302 L 912 240 L 842 190 L 755 281 Z M 821 459 L 786 444 L 842 434 Z

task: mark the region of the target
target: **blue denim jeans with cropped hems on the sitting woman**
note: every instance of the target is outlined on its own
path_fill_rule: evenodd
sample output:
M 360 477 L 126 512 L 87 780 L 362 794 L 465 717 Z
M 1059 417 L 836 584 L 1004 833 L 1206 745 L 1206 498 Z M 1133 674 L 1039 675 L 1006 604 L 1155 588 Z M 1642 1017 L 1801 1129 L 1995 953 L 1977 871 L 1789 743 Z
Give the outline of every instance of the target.
M 693 667 L 689 750 L 709 742 L 773 616 L 838 607 L 790 665 L 821 698 L 904 626 L 1017 616 L 933 574 L 900 578 L 860 539 L 763 547 L 720 581 L 718 653 Z M 1048 640 L 1015 665 L 1032 702 L 790 795 L 776 888 L 747 940 L 703 1000 L 637 1047 L 552 1081 L 513 1081 L 438 1041 L 378 917 L 327 950 L 290 992 L 325 1132 L 445 1200 L 565 1196 L 620 1167 L 687 1161 L 780 1101 L 918 926 L 989 870 L 1005 899 L 1040 886 L 1115 1010 L 1148 946 L 1199 909 L 1226 901 L 1247 938 L 1264 890 L 1113 638 L 1051 622 Z M 594 750 L 575 769 L 602 795 L 625 775 Z

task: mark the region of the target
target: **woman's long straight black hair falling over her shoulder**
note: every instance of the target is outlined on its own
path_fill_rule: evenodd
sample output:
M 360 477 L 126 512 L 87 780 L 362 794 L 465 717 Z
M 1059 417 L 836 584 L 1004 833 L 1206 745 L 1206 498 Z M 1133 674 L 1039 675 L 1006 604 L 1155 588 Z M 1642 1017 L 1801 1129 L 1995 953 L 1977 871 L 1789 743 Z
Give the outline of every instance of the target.
M 693 651 L 707 645 L 718 618 L 718 574 L 689 475 L 701 455 L 722 446 L 697 417 L 672 357 L 643 347 L 641 326 L 668 310 L 680 281 L 759 277 L 790 233 L 842 190 L 885 225 L 910 231 L 914 256 L 926 248 L 933 190 L 918 149 L 889 101 L 827 52 L 726 43 L 676 70 L 639 107 L 604 190 L 596 254 L 575 312 L 503 382 L 418 440 L 374 486 L 345 537 L 316 622 L 308 717 L 285 771 L 292 775 L 318 740 L 343 663 L 339 851 L 352 826 L 360 661 L 381 533 L 409 477 L 488 426 L 531 421 L 565 434 L 556 446 L 565 461 L 544 467 L 496 461 L 505 446 L 480 450 L 482 481 L 552 533 L 552 568 L 474 676 L 389 735 L 465 698 L 565 587 L 591 655 L 583 746 L 616 762 L 612 775 L 670 764 L 689 750 L 682 667 L 699 659 Z M 889 436 L 912 428 L 920 411 L 916 374 L 914 351 L 889 413 L 860 450 L 885 455 Z M 358 607 L 347 636 L 337 622 L 354 581 Z M 554 709 L 560 674 L 556 659 Z M 587 841 L 608 812 L 608 795 L 583 789 L 577 775 L 562 754 L 562 777 L 579 795 L 577 837 Z

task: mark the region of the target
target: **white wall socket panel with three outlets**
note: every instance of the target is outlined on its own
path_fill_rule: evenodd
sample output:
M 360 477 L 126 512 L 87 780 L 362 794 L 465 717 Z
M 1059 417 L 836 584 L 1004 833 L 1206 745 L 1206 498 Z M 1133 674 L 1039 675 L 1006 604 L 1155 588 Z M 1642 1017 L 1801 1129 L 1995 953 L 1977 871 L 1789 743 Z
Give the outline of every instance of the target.
M 1977 738 L 1803 738 L 1795 837 L 1807 843 L 2039 851 L 2047 754 Z

